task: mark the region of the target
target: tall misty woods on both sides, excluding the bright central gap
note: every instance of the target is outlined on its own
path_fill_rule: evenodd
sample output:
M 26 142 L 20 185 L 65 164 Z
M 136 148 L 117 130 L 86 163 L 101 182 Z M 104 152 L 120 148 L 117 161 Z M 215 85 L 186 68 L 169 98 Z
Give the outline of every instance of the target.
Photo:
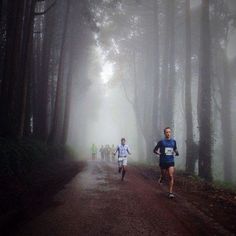
M 192 2 L 0 1 L 0 136 L 65 145 L 96 46 L 134 111 L 140 159 L 171 126 L 187 172 L 235 181 L 235 3 Z

